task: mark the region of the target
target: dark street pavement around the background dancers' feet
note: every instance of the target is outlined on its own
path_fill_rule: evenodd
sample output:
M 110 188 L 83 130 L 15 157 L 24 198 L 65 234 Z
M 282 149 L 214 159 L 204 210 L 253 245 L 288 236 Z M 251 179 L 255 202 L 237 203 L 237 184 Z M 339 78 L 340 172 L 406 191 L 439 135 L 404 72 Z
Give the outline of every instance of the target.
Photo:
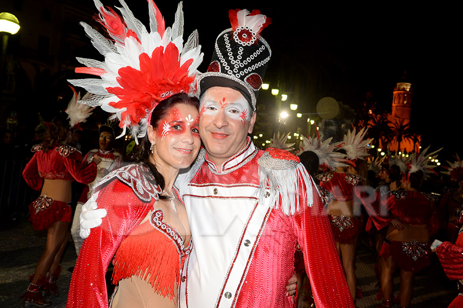
M 34 272 L 35 265 L 45 247 L 45 242 L 46 232 L 33 230 L 25 219 L 2 223 L 0 226 L 0 307 L 22 307 L 20 297 L 29 284 L 28 275 Z M 69 238 L 69 246 L 62 261 L 63 270 L 58 280 L 59 294 L 54 299 L 52 307 L 65 307 L 66 305 L 67 290 L 72 275 L 67 271 L 67 268 L 74 266 L 76 258 L 72 239 Z M 360 308 L 376 308 L 379 303 L 375 299 L 377 279 L 373 270 L 374 263 L 373 253 L 361 241 L 356 264 L 358 287 L 363 293 L 363 297 L 359 298 L 357 302 Z M 399 289 L 398 275 L 396 275 L 394 282 L 397 294 Z M 423 269 L 415 277 L 412 307 L 445 308 L 456 295 L 456 282 L 449 281 L 445 277 L 442 268 L 435 259 L 431 266 Z M 302 302 L 299 307 L 305 308 L 308 305 Z

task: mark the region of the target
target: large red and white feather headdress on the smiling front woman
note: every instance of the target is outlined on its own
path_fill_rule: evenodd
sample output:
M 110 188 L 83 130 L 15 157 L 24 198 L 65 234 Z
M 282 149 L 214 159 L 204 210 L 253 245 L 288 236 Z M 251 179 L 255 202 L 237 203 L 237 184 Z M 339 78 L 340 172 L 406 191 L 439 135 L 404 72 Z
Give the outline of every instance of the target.
M 166 28 L 161 12 L 153 0 L 148 0 L 150 31 L 134 17 L 124 0 L 119 0 L 122 7 L 118 8 L 122 17 L 103 7 L 99 0 L 94 2 L 99 11 L 97 20 L 111 39 L 81 22 L 104 61 L 78 57 L 86 67 L 78 67 L 76 72 L 100 78 L 69 82 L 95 94 L 80 103 L 115 113 L 113 118 L 117 117 L 123 128 L 119 137 L 130 128 L 137 141 L 137 137 L 145 136 L 150 112 L 160 101 L 176 93 L 196 92 L 197 68 L 203 59 L 198 32 L 193 31 L 183 44 L 182 2 L 172 27 Z

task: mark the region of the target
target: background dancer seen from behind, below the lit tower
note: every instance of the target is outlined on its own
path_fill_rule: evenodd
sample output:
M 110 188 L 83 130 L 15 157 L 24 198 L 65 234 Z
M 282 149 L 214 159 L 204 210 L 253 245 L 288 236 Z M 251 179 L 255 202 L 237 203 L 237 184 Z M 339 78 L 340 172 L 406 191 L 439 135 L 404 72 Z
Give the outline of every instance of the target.
M 431 262 L 429 239 L 438 226 L 436 198 L 418 191 L 422 180 L 422 170 L 404 176 L 403 189 L 390 191 L 382 204 L 390 214 L 387 220 L 381 219 L 378 224 L 390 224 L 381 248 L 381 308 L 391 306 L 393 275 L 398 267 L 400 307 L 408 307 L 412 299 L 414 274 Z M 375 217 L 372 216 L 372 219 Z

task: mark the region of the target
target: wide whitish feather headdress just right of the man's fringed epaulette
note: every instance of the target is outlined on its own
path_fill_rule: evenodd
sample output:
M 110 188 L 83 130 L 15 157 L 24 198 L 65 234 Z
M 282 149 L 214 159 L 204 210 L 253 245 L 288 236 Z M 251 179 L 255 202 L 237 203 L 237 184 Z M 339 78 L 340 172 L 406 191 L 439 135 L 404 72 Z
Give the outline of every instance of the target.
M 330 169 L 347 167 L 345 155 L 335 151 L 336 148 L 341 146 L 342 142 L 331 143 L 332 137 L 325 141 L 322 141 L 322 139 L 323 135 L 313 138 L 302 136 L 302 142 L 299 145 L 299 155 L 305 151 L 312 151 L 318 156 L 320 166 L 326 166 Z

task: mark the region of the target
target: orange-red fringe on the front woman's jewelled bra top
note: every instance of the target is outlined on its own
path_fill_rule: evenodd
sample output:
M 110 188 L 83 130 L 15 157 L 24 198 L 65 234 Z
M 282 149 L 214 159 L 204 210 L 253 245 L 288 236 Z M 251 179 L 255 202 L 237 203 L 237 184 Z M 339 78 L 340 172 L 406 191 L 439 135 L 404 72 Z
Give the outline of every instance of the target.
M 114 257 L 113 283 L 137 276 L 148 281 L 154 292 L 172 300 L 181 265 L 172 240 L 147 221 L 122 241 Z

